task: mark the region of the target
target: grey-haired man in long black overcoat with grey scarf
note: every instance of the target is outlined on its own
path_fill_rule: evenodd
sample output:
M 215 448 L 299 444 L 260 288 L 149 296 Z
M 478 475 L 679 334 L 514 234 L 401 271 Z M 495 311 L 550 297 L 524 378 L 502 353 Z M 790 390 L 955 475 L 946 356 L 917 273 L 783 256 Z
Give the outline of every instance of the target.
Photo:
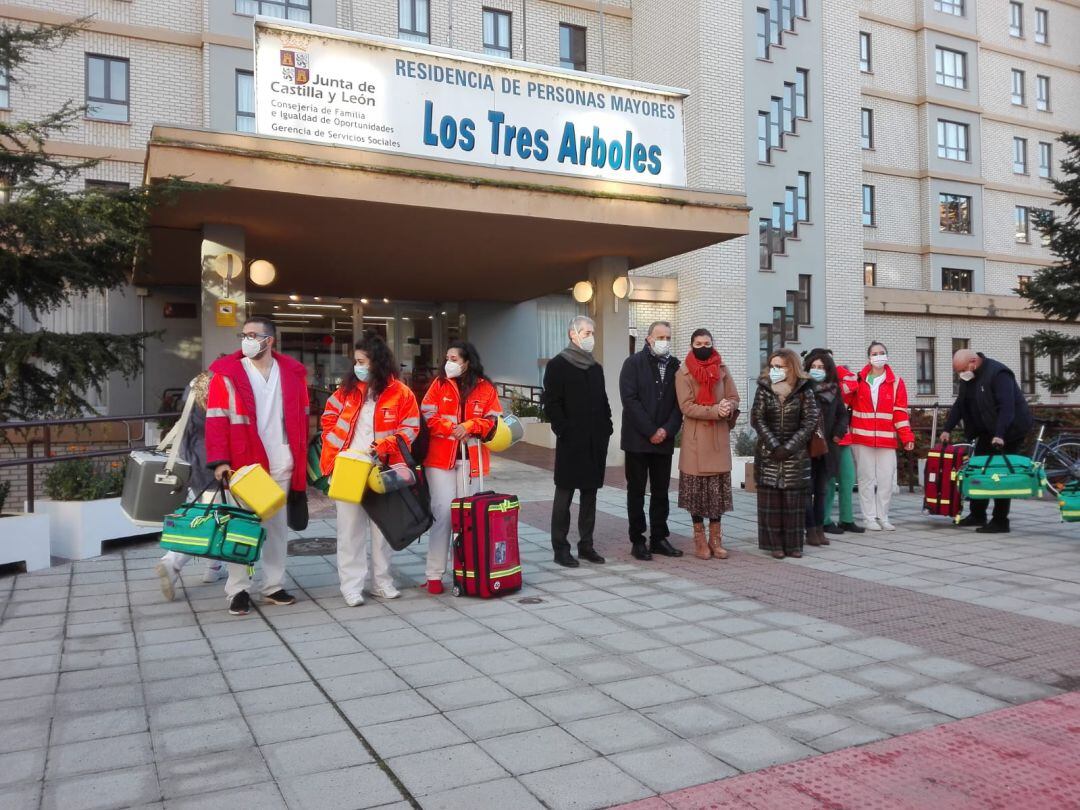
M 603 563 L 593 548 L 596 490 L 604 486 L 608 440 L 615 432 L 604 368 L 593 356 L 596 326 L 578 315 L 570 322 L 570 345 L 552 357 L 543 375 L 543 410 L 555 433 L 555 501 L 551 508 L 551 546 L 555 562 L 578 566 L 570 553 L 570 502 L 581 490 L 578 556 Z

